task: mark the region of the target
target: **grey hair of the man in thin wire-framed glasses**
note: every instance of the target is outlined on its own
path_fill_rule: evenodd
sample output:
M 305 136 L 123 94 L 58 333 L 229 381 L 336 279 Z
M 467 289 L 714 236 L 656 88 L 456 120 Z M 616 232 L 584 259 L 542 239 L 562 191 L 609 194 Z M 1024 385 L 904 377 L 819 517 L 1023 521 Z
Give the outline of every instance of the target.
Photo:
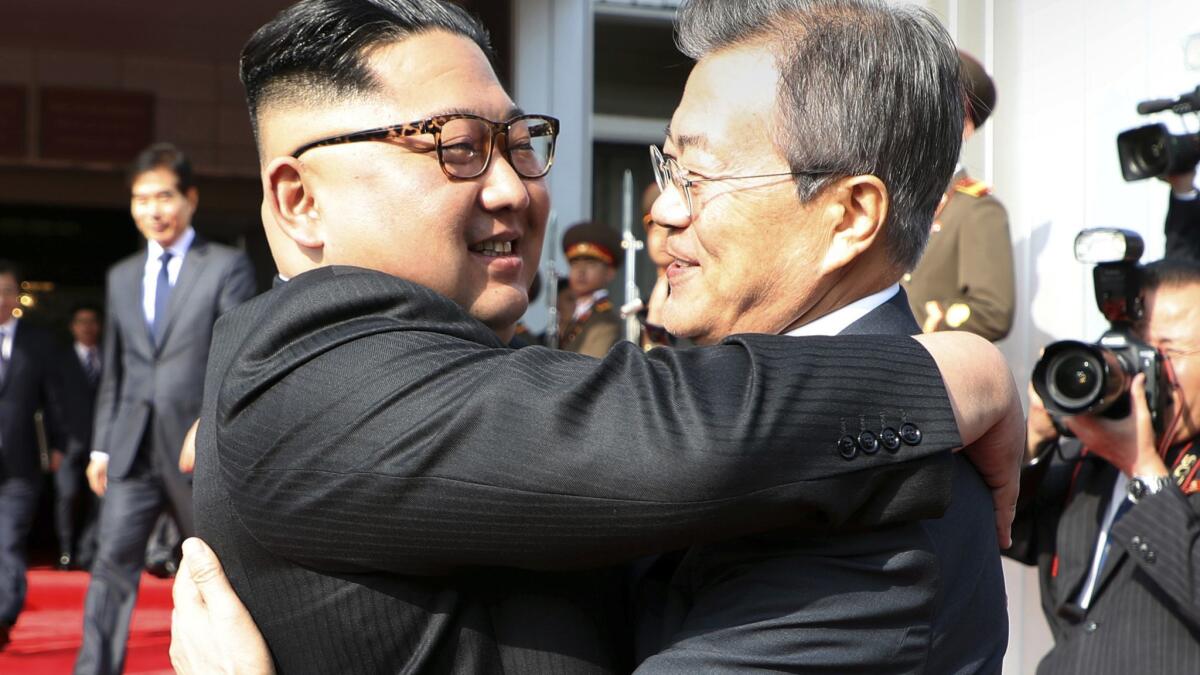
M 679 49 L 762 44 L 780 70 L 773 136 L 802 202 L 839 178 L 887 185 L 888 255 L 912 269 L 954 175 L 966 114 L 959 54 L 937 18 L 884 0 L 688 0 Z

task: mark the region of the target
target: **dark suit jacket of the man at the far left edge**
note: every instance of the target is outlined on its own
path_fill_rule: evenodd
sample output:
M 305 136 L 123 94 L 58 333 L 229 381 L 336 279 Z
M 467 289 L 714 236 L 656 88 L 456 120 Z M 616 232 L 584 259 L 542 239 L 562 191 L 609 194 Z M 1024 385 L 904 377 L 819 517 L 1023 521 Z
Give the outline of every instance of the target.
M 12 357 L 0 382 L 0 479 L 41 478 L 41 458 L 34 413 L 44 411 L 52 448 L 62 448 L 61 386 L 56 364 L 60 354 L 47 331 L 17 322 Z

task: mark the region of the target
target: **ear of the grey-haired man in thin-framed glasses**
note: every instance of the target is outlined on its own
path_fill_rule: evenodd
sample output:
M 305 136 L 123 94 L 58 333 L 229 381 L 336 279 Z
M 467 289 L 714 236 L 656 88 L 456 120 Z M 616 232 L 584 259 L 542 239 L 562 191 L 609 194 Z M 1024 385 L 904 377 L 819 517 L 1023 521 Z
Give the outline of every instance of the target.
M 883 234 L 888 219 L 888 187 L 874 175 L 845 178 L 830 191 L 826 221 L 830 231 L 826 250 L 826 271 L 848 265 L 865 253 Z

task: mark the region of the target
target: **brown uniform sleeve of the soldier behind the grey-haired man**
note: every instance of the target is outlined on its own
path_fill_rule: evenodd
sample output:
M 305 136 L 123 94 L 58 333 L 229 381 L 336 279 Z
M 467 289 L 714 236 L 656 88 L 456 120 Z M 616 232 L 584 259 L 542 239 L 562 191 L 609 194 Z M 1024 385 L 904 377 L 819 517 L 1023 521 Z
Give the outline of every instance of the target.
M 1016 301 L 1013 241 L 1008 233 L 1008 214 L 995 198 L 977 202 L 971 221 L 962 226 L 956 288 L 955 295 L 942 301 L 943 311 L 964 304 L 971 309 L 971 315 L 953 330 L 966 330 L 991 341 L 1008 335 Z

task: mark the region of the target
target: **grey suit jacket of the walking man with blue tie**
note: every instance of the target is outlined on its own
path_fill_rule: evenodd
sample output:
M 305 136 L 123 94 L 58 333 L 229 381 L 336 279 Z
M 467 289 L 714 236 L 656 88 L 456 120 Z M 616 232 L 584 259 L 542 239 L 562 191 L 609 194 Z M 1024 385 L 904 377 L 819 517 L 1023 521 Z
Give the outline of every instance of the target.
M 152 452 L 174 466 L 200 414 L 204 368 L 218 316 L 254 293 L 244 253 L 197 235 L 172 288 L 167 325 L 155 345 L 142 310 L 146 252 L 108 271 L 104 371 L 96 400 L 92 449 L 109 455 L 108 474 L 128 474 L 150 434 Z

